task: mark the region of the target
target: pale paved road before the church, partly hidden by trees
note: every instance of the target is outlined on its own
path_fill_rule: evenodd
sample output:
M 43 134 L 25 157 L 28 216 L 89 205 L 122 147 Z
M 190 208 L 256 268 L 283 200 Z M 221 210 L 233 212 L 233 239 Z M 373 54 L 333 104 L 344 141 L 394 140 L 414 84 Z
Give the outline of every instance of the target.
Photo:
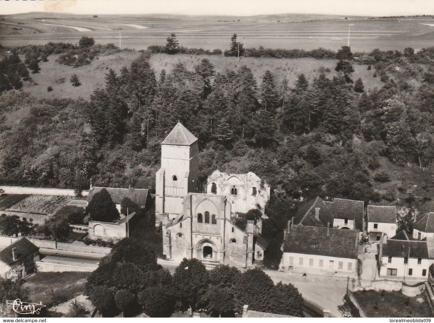
M 171 273 L 178 266 L 178 263 L 171 260 L 158 259 L 158 264 L 161 264 L 161 266 L 168 269 Z M 322 310 L 330 310 L 330 316 L 332 317 L 342 317 L 338 306 L 342 304 L 342 297 L 346 292 L 346 278 L 311 274 L 308 277 L 302 277 L 300 273 L 286 273 L 274 270 L 264 271 L 271 277 L 274 283 L 278 283 L 279 281 L 292 283 L 309 303 Z

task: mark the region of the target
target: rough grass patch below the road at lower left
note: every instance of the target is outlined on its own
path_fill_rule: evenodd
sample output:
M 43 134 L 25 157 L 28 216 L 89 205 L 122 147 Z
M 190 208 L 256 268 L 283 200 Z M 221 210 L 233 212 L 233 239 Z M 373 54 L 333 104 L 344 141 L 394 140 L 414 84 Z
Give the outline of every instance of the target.
M 33 303 L 53 303 L 55 295 L 70 300 L 84 292 L 89 274 L 75 271 L 36 273 L 26 277 L 23 287 L 29 291 L 28 297 Z

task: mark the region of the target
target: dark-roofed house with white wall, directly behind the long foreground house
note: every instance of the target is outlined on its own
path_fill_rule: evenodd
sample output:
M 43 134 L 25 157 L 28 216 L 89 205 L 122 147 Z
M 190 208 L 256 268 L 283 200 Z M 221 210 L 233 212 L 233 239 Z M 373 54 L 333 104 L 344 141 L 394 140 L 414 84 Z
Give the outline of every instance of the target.
M 363 231 L 364 201 L 334 198 L 324 204 L 333 214 L 333 227 Z

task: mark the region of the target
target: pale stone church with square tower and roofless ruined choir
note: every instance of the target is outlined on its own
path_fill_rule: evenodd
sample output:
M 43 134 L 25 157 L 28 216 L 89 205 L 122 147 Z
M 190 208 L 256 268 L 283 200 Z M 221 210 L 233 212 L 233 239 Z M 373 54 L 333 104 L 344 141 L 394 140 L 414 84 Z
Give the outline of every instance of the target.
M 177 261 L 197 258 L 207 267 L 245 268 L 263 260 L 267 243 L 260 234 L 270 185 L 252 172 L 214 171 L 204 187 L 209 192 L 200 192 L 198 151 L 197 138 L 179 122 L 161 143 L 155 225 L 162 226 L 163 253 Z M 262 218 L 236 222 L 250 209 L 259 209 Z

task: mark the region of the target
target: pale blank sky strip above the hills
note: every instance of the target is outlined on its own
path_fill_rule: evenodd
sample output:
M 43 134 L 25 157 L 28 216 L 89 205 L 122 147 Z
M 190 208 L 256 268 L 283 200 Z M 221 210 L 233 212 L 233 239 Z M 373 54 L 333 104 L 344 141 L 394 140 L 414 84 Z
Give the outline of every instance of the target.
M 434 0 L 0 0 L 0 14 L 32 11 L 218 16 L 284 13 L 405 16 L 434 15 Z

